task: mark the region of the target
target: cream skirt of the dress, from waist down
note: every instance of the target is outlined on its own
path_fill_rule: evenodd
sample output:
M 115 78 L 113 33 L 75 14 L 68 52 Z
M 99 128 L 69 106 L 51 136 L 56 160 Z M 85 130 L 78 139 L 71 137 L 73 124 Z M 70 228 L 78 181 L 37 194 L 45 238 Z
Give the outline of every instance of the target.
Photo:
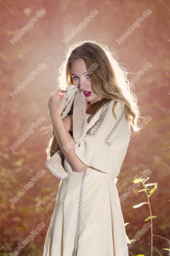
M 128 255 L 115 182 L 90 168 L 60 181 L 43 256 Z

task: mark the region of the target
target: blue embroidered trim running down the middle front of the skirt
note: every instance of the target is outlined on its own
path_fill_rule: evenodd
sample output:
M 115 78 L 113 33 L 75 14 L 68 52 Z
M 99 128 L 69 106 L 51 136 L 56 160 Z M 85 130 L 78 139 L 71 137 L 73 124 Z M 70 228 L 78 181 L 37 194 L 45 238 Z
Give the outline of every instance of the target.
M 82 208 L 82 199 L 83 199 L 83 188 L 84 188 L 84 179 L 87 171 L 83 171 L 83 176 L 81 179 L 81 185 L 80 185 L 80 192 L 79 192 L 79 209 L 78 209 L 78 220 L 77 220 L 77 235 L 75 240 L 75 255 L 77 256 L 77 249 L 78 249 L 78 239 L 80 234 L 80 225 L 81 225 L 81 208 Z

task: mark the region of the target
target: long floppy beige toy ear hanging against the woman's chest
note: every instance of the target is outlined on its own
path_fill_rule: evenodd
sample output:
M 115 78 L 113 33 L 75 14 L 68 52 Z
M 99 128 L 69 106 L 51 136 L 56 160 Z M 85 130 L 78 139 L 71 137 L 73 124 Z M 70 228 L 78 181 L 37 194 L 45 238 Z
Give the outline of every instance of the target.
M 77 142 L 86 133 L 86 100 L 83 91 L 77 91 L 73 102 L 73 139 Z

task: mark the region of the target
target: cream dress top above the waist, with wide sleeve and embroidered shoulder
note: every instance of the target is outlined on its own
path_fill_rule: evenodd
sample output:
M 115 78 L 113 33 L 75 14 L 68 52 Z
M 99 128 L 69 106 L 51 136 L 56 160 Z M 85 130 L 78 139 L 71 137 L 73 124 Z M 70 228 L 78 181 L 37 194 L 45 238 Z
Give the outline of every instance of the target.
M 74 151 L 78 158 L 92 169 L 114 174 L 116 177 L 128 149 L 131 128 L 120 102 L 115 108 L 115 119 L 112 112 L 113 103 L 114 101 L 109 101 L 104 106 L 100 118 L 87 130 L 85 136 L 77 141 Z

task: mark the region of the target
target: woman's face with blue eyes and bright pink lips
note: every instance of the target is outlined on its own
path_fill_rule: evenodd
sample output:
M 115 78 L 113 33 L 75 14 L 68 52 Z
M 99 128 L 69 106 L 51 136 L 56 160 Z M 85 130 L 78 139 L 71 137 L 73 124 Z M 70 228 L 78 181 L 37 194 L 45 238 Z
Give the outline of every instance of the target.
M 73 79 L 73 84 L 77 86 L 80 91 L 84 92 L 86 101 L 92 104 L 102 99 L 102 97 L 92 92 L 90 74 L 87 72 L 84 59 L 80 58 L 74 60 L 70 64 L 70 74 Z

